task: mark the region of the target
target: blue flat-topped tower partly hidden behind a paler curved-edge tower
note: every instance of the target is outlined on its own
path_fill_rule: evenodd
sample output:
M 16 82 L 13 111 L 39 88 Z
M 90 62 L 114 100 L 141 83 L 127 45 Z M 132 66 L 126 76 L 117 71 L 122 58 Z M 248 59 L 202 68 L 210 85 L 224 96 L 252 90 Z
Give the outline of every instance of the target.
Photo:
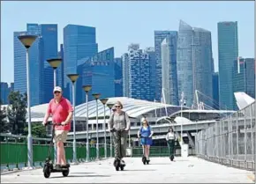
M 172 31 L 154 31 L 154 52 L 155 52 L 155 71 L 156 71 L 156 83 L 155 83 L 155 99 L 162 99 L 162 54 L 161 44 L 168 35 L 173 34 Z

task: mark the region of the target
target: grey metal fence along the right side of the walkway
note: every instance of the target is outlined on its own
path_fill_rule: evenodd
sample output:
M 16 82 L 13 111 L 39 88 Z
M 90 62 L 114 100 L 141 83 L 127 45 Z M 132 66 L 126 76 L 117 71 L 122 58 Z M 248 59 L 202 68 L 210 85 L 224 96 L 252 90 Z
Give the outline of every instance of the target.
M 255 102 L 195 136 L 196 155 L 226 166 L 255 170 Z

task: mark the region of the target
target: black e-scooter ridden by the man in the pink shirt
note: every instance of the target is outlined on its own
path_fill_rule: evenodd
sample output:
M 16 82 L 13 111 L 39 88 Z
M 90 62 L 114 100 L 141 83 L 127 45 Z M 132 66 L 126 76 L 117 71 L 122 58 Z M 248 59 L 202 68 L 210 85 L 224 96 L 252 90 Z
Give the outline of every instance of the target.
M 49 123 L 48 123 L 49 125 Z M 62 173 L 64 177 L 68 176 L 70 173 L 70 165 L 67 164 L 66 166 L 62 166 L 61 168 L 54 168 L 53 166 L 53 160 L 50 158 L 50 153 L 51 153 L 51 148 L 53 147 L 53 138 L 55 136 L 55 126 L 56 125 L 61 125 L 61 124 L 51 124 L 53 125 L 52 127 L 52 132 L 51 132 L 51 140 L 49 144 L 49 151 L 48 151 L 48 158 L 46 158 L 44 166 L 43 166 L 43 175 L 45 178 L 49 178 L 50 173 Z

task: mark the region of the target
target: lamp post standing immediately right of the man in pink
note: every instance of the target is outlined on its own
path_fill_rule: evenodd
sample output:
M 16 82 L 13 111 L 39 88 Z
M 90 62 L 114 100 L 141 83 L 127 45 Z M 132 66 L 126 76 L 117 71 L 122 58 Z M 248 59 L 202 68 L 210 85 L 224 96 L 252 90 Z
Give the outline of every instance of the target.
M 76 145 L 76 101 L 75 101 L 75 82 L 77 81 L 79 74 L 68 74 L 67 77 L 69 77 L 72 81 L 72 101 L 73 101 L 73 162 L 77 164 L 77 145 Z

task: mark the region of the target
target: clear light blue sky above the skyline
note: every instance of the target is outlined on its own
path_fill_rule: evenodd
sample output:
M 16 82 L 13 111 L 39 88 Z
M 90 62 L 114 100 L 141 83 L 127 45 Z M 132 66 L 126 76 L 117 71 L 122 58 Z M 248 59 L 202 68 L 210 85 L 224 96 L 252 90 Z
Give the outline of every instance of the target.
M 218 70 L 217 23 L 238 22 L 238 49 L 243 57 L 254 57 L 254 2 L 87 2 L 2 1 L 1 82 L 14 81 L 13 32 L 25 31 L 27 23 L 57 24 L 58 44 L 68 24 L 96 27 L 99 51 L 115 48 L 115 56 L 130 43 L 154 47 L 154 30 L 178 31 L 179 20 L 211 31 L 215 70 Z

